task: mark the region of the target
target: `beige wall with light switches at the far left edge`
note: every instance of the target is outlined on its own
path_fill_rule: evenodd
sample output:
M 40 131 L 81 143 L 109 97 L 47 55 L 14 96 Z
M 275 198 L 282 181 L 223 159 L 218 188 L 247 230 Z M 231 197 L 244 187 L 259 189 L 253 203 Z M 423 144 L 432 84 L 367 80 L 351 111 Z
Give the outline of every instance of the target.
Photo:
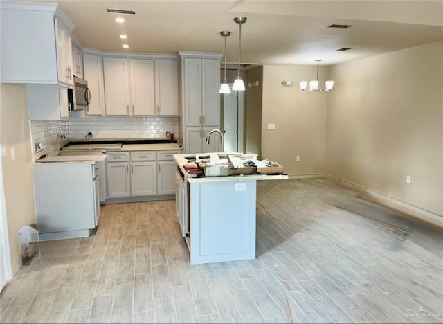
M 21 267 L 19 229 L 35 224 L 32 156 L 28 104 L 24 84 L 0 84 L 0 143 L 6 144 L 2 158 L 3 182 L 8 217 L 12 274 Z M 11 149 L 15 149 L 15 161 Z

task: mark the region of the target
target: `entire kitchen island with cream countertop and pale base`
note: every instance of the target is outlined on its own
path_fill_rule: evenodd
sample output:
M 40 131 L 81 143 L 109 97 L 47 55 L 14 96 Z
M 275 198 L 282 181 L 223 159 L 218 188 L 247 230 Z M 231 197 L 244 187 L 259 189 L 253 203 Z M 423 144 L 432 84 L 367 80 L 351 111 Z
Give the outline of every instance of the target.
M 220 154 L 195 156 L 197 161 L 199 156 L 210 156 L 213 164 Z M 190 154 L 174 154 L 177 219 L 188 244 L 190 264 L 255 259 L 257 181 L 288 179 L 287 174 L 195 177 L 185 167 L 191 159 Z

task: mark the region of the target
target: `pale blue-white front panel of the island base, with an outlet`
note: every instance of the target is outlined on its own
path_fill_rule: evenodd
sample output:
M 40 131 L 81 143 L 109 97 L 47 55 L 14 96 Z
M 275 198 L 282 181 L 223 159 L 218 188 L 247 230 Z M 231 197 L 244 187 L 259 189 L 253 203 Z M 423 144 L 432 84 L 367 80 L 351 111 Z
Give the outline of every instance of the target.
M 191 264 L 255 259 L 256 184 L 190 183 Z

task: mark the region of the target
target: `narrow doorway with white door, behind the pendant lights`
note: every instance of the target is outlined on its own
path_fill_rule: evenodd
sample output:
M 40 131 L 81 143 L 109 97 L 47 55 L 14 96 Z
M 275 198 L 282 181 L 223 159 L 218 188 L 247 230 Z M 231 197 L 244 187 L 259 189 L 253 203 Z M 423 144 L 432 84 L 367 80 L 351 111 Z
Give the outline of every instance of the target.
M 243 93 L 232 91 L 221 96 L 225 152 L 243 152 Z

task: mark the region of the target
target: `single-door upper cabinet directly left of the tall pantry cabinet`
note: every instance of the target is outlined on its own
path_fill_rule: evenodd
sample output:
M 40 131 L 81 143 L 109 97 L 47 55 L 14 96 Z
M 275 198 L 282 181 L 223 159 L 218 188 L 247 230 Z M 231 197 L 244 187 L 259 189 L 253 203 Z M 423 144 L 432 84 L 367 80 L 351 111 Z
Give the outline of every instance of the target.
M 177 61 L 155 60 L 156 115 L 179 114 L 179 67 Z

